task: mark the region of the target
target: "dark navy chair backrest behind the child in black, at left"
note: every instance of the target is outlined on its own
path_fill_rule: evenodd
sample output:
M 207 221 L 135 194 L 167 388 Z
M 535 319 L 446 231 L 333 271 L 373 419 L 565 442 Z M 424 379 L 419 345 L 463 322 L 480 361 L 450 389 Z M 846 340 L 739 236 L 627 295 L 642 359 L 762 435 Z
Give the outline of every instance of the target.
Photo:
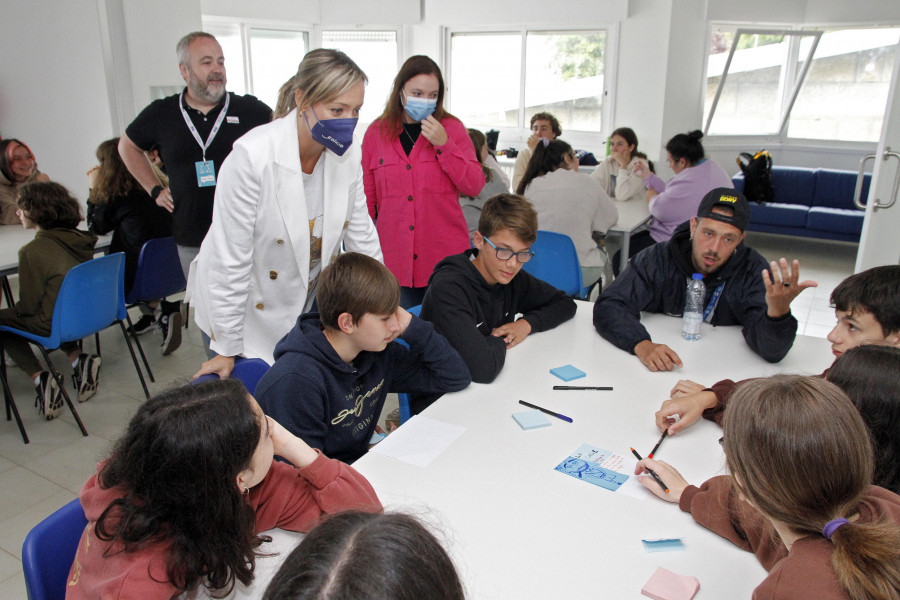
M 149 240 L 141 248 L 134 283 L 125 302 L 134 304 L 159 300 L 184 291 L 186 286 L 175 239 L 167 237 Z

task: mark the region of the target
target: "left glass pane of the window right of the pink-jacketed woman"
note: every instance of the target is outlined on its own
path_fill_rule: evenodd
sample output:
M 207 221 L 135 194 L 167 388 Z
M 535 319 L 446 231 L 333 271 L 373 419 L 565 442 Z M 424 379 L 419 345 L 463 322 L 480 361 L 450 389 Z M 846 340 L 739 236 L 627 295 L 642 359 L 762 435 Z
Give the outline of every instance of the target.
M 448 109 L 467 127 L 520 126 L 521 65 L 518 33 L 454 34 Z

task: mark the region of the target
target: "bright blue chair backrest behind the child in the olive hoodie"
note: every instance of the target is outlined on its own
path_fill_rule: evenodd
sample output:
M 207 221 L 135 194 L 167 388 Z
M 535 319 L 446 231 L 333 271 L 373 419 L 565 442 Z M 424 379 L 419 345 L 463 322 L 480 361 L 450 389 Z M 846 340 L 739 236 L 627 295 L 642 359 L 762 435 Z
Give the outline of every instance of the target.
M 125 318 L 125 255 L 116 252 L 73 267 L 53 308 L 50 339 L 72 342 Z

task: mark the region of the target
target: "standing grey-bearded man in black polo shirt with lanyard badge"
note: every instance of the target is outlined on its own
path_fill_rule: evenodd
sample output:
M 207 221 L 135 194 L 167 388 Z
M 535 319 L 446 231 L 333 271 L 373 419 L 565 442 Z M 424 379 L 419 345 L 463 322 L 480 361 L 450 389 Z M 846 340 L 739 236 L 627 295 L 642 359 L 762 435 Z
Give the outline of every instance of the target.
M 189 33 L 175 51 L 187 87 L 141 111 L 121 137 L 119 154 L 150 197 L 173 213 L 172 234 L 187 277 L 212 222 L 222 161 L 235 140 L 271 120 L 272 110 L 253 96 L 225 91 L 225 57 L 212 35 Z M 156 179 L 147 159 L 146 152 L 155 146 L 169 186 Z M 181 316 L 177 304 L 161 306 L 158 323 L 163 354 L 168 354 L 181 342 Z

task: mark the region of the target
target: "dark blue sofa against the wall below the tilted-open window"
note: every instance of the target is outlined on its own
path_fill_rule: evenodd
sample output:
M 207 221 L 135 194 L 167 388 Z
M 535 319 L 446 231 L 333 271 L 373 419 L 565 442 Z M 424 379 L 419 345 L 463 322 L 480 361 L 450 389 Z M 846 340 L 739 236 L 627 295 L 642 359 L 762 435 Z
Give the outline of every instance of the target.
M 862 199 L 869 194 L 871 174 L 863 181 Z M 732 178 L 744 191 L 744 174 Z M 750 231 L 781 233 L 826 240 L 858 242 L 865 211 L 853 204 L 855 171 L 772 167 L 775 202 L 750 204 Z

